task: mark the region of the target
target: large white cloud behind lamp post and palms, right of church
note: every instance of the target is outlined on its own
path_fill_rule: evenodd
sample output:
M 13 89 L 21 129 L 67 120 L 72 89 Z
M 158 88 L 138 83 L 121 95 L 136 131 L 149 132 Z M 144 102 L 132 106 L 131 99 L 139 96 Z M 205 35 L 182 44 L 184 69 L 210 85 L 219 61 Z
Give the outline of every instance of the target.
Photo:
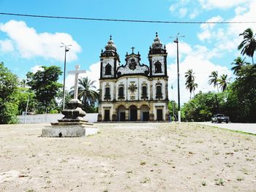
M 170 54 L 171 58 L 176 58 L 176 44 L 169 43 L 167 44 L 167 53 Z M 180 43 L 182 49 L 180 55 L 184 59 L 180 57 L 180 91 L 181 91 L 181 104 L 189 100 L 189 91 L 187 91 L 185 86 L 185 77 L 184 74 L 189 69 L 192 69 L 195 72 L 195 82 L 198 84 L 198 88 L 195 93 L 198 91 L 208 92 L 214 91 L 214 87 L 208 85 L 208 76 L 213 71 L 218 71 L 219 75 L 227 74 L 228 77 L 231 77 L 232 72 L 227 69 L 226 66 L 221 66 L 219 64 L 213 64 L 210 59 L 219 57 L 220 53 L 217 48 L 213 48 L 209 50 L 207 47 L 202 45 L 189 45 L 187 43 Z M 182 51 L 183 50 L 183 51 Z M 169 99 L 174 99 L 177 101 L 177 64 L 176 61 L 172 61 L 171 64 L 168 64 L 167 73 L 169 76 Z M 173 85 L 173 94 L 171 91 L 171 85 Z

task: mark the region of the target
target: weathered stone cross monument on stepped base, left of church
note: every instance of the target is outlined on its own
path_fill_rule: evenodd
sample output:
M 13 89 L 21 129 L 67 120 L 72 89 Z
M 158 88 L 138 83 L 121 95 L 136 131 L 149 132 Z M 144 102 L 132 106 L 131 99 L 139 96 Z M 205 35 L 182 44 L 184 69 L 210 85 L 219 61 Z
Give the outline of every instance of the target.
M 51 123 L 51 126 L 42 128 L 42 137 L 86 137 L 97 134 L 98 129 L 83 119 L 86 112 L 81 109 L 83 104 L 78 100 L 78 74 L 86 71 L 79 70 L 79 65 L 75 68 L 75 71 L 68 72 L 75 74 L 74 99 L 67 104 L 68 109 L 62 111 L 64 118 L 58 120 L 58 123 Z

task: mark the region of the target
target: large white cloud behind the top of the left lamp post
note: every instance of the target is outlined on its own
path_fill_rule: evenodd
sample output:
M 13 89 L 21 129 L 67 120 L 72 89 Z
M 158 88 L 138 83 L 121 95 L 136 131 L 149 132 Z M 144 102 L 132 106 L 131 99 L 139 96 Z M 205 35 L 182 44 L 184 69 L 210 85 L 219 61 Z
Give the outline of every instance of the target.
M 52 58 L 58 61 L 63 60 L 64 50 L 60 48 L 61 42 L 71 44 L 71 50 L 67 54 L 69 61 L 77 59 L 81 47 L 69 34 L 65 33 L 37 33 L 34 28 L 30 28 L 24 21 L 10 20 L 1 23 L 0 31 L 3 31 L 15 45 L 22 58 Z

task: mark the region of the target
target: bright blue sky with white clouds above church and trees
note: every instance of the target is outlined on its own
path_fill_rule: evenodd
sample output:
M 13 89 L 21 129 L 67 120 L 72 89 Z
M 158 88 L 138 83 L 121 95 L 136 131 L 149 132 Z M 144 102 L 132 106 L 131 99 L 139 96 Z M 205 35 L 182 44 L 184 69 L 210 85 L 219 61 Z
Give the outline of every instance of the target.
M 0 0 L 0 12 L 127 20 L 255 21 L 253 7 L 256 7 L 254 0 Z M 214 91 L 207 84 L 211 71 L 232 77 L 229 69 L 230 63 L 239 55 L 237 46 L 241 37 L 238 34 L 248 27 L 256 31 L 255 24 L 116 23 L 0 15 L 0 61 L 20 78 L 42 65 L 63 67 L 64 50 L 59 46 L 64 42 L 73 45 L 67 53 L 67 70 L 80 64 L 80 69 L 88 70 L 85 75 L 97 80 L 100 50 L 104 49 L 110 34 L 121 56 L 121 64 L 132 46 L 135 52 L 140 51 L 141 63 L 148 64 L 148 47 L 157 31 L 162 43 L 167 45 L 169 55 L 169 83 L 174 88 L 173 94 L 169 89 L 169 97 L 176 99 L 176 45 L 170 37 L 179 32 L 186 36 L 180 39 L 181 101 L 184 102 L 189 99 L 183 77 L 187 69 L 195 72 L 197 91 Z M 67 77 L 67 88 L 72 86 L 72 79 L 72 76 Z

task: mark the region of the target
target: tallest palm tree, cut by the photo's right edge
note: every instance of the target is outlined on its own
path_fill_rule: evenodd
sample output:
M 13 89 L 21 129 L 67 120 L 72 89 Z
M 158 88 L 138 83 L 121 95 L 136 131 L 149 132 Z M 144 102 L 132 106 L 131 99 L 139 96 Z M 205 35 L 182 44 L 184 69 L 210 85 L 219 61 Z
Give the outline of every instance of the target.
M 249 57 L 252 57 L 252 64 L 253 62 L 253 55 L 256 50 L 256 39 L 255 34 L 253 34 L 251 28 L 247 28 L 244 33 L 239 34 L 239 36 L 244 36 L 244 40 L 241 42 L 240 45 L 238 45 L 238 50 L 241 50 L 241 54 L 248 55 Z

